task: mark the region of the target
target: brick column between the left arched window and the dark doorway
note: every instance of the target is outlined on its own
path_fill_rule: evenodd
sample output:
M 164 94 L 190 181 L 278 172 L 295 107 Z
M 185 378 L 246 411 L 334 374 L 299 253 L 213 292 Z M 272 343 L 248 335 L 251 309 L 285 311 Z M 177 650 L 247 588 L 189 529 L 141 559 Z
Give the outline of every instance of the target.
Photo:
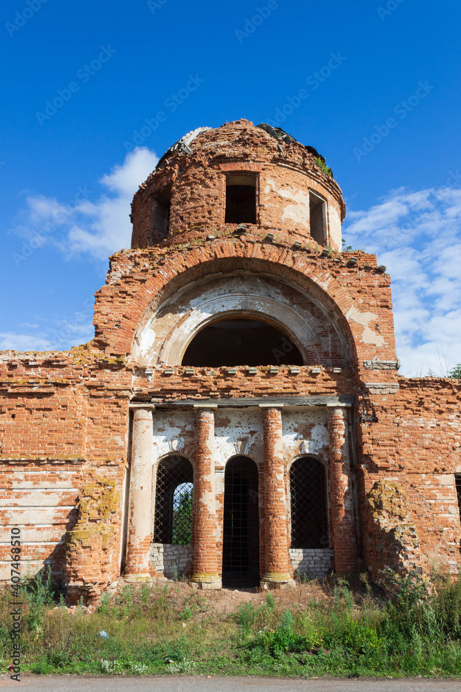
M 216 555 L 214 412 L 212 408 L 198 410 L 195 461 L 195 512 L 192 529 L 194 568 L 190 581 L 202 589 L 220 589 L 221 580 L 218 575 Z

